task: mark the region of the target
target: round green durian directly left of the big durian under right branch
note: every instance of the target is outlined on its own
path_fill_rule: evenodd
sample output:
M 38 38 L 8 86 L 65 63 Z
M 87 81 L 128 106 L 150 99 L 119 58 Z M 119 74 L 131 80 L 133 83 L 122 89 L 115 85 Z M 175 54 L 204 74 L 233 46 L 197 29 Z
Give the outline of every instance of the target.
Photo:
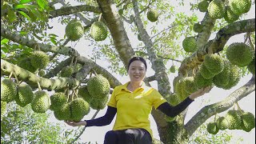
M 207 70 L 214 75 L 222 72 L 224 68 L 223 58 L 218 54 L 206 54 L 203 63 Z

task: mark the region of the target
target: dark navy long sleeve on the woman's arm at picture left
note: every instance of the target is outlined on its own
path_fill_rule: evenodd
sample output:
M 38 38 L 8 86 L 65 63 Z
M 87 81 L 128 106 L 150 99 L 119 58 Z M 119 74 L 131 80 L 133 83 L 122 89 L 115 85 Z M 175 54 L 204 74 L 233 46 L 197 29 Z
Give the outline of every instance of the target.
M 111 106 L 107 107 L 106 114 L 100 118 L 86 120 L 86 126 L 106 126 L 109 125 L 114 119 L 117 109 Z

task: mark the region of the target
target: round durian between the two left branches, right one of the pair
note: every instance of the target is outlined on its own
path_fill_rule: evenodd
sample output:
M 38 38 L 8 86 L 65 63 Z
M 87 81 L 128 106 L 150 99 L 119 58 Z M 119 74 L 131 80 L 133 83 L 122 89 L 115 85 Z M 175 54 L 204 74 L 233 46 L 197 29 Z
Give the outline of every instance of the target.
M 43 69 L 50 62 L 49 56 L 45 52 L 39 50 L 35 50 L 31 54 L 30 58 L 31 65 L 34 66 L 34 68 L 36 69 Z

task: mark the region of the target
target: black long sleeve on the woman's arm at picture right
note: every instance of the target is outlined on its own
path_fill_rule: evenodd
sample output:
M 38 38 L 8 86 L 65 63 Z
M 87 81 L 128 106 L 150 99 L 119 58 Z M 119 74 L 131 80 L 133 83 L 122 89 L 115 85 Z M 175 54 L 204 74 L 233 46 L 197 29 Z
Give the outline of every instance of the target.
M 175 117 L 183 110 L 185 110 L 191 102 L 194 102 L 194 100 L 190 99 L 189 97 L 186 98 L 183 102 L 179 103 L 177 106 L 170 106 L 168 102 L 164 102 L 160 106 L 158 106 L 157 110 L 162 111 L 162 113 L 168 115 L 169 117 Z

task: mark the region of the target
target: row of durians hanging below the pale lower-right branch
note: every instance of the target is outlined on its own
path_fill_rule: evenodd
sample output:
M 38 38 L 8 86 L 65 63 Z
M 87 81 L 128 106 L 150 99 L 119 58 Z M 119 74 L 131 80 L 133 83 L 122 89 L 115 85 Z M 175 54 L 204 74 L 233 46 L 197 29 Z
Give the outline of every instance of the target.
M 218 130 L 250 130 L 255 127 L 254 114 L 244 110 L 228 110 L 224 117 L 219 117 L 216 122 L 207 124 L 207 131 L 210 134 L 217 134 Z

